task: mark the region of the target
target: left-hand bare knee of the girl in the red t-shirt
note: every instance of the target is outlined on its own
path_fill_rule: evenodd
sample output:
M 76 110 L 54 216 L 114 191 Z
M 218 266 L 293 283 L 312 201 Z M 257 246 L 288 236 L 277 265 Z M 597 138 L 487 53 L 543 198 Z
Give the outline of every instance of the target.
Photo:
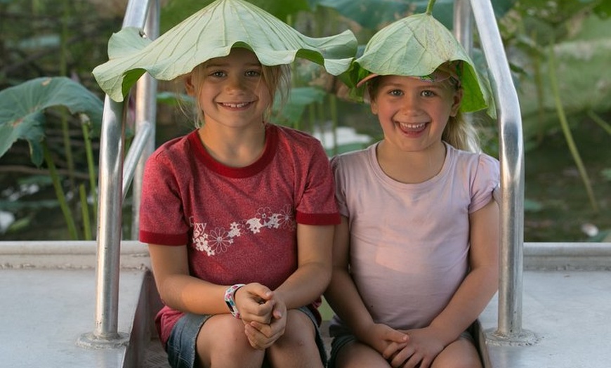
M 204 368 L 261 368 L 265 352 L 252 348 L 244 323 L 232 315 L 214 315 L 197 336 L 197 360 Z

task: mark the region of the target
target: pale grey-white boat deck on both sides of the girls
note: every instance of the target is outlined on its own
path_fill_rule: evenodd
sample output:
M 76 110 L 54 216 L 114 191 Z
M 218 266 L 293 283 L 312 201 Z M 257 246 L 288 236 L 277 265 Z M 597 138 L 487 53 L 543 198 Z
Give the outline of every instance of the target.
M 585 251 L 579 252 L 583 247 Z M 158 308 L 147 271 L 146 248 L 124 242 L 121 251 L 118 348 L 77 344 L 93 331 L 96 303 L 94 243 L 0 243 L 0 367 L 168 367 L 152 329 Z M 487 367 L 606 368 L 611 349 L 611 244 L 584 243 L 549 254 L 525 245 L 523 329 L 527 346 L 486 339 Z M 497 329 L 497 298 L 482 314 L 485 334 Z

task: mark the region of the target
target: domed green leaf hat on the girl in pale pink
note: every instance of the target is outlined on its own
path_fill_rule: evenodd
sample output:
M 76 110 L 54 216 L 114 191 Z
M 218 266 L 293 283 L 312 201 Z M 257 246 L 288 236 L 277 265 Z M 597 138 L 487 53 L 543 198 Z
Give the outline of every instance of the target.
M 430 13 L 409 15 L 376 32 L 344 80 L 355 88 L 353 95 L 362 98 L 364 86 L 357 84 L 370 74 L 426 77 L 440 65 L 456 60 L 464 61 L 460 75 L 464 89 L 461 111 L 473 112 L 492 105 L 487 80 L 480 77 L 454 35 Z

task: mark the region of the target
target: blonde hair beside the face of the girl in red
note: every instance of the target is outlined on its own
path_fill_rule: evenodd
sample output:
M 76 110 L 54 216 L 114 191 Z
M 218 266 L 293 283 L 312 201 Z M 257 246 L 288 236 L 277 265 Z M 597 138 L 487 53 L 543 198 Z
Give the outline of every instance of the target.
M 193 114 L 195 119 L 195 126 L 200 128 L 204 124 L 204 112 L 202 107 L 199 106 L 199 90 L 204 81 L 204 70 L 206 69 L 207 61 L 197 65 L 190 74 L 187 74 L 184 78 L 191 77 L 191 84 L 195 91 L 195 96 L 192 102 Z M 287 64 L 283 65 L 261 65 L 261 72 L 263 77 L 261 81 L 265 83 L 270 91 L 270 100 L 272 101 L 268 108 L 265 110 L 263 115 L 263 121 L 266 122 L 272 117 L 272 107 L 275 103 L 276 96 L 278 96 L 279 107 L 284 106 L 289 99 L 289 92 L 291 91 L 291 68 Z M 280 110 L 280 109 L 279 109 Z

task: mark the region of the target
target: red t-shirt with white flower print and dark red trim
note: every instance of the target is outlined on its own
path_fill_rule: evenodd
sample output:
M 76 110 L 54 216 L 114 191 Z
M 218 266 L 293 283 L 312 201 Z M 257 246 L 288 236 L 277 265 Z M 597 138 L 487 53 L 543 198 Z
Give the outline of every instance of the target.
M 202 280 L 279 287 L 297 268 L 297 223 L 339 223 L 329 159 L 306 133 L 268 124 L 261 157 L 233 168 L 193 131 L 159 147 L 145 166 L 140 241 L 187 244 L 190 273 Z M 163 343 L 182 315 L 159 312 Z

